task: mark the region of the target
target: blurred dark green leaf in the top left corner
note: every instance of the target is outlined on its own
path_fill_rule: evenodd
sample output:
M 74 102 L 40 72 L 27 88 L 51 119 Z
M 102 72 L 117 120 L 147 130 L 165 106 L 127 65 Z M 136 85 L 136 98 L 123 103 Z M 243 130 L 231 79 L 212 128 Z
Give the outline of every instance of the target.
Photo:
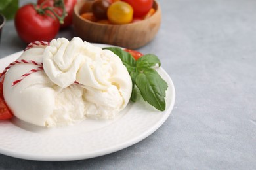
M 18 0 L 1 0 L 0 1 L 0 13 L 10 20 L 14 18 L 16 11 L 18 10 Z

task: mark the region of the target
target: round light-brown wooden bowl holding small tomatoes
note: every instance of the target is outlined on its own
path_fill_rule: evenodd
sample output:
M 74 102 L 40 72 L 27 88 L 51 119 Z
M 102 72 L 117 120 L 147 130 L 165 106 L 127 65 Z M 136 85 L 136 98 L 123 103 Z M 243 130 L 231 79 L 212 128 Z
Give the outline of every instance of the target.
M 156 12 L 145 20 L 130 24 L 101 24 L 82 18 L 82 7 L 87 1 L 77 3 L 74 7 L 74 31 L 83 41 L 111 44 L 135 49 L 152 41 L 161 24 L 160 5 L 154 1 Z

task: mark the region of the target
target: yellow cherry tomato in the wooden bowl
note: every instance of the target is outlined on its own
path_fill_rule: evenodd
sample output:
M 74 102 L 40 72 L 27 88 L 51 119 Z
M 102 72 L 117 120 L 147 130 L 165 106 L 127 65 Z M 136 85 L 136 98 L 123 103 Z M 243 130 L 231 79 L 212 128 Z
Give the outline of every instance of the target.
M 108 20 L 113 24 L 127 24 L 133 20 L 133 7 L 128 3 L 117 1 L 108 7 Z

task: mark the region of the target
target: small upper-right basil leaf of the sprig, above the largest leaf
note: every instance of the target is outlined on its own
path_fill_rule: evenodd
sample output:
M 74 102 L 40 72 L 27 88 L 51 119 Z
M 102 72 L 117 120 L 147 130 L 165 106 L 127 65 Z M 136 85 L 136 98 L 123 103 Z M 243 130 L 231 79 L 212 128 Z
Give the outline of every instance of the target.
M 154 54 L 146 54 L 139 58 L 136 62 L 136 66 L 138 69 L 153 67 L 156 64 L 158 64 L 159 67 L 161 66 L 160 60 Z

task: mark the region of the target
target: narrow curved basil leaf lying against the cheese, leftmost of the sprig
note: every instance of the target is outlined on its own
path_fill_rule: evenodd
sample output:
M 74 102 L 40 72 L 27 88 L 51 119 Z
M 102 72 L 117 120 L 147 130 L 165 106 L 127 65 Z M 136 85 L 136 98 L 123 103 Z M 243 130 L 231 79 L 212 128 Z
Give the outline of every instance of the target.
M 121 48 L 118 48 L 118 47 L 107 47 L 107 48 L 103 48 L 103 49 L 110 50 L 110 51 L 114 52 L 114 54 L 119 56 L 119 58 L 123 62 L 123 65 L 125 65 L 125 67 L 127 68 L 129 73 L 131 73 L 132 71 L 135 71 L 136 61 L 133 58 L 133 56 L 131 56 L 131 54 L 129 54 L 129 52 L 125 52 Z

